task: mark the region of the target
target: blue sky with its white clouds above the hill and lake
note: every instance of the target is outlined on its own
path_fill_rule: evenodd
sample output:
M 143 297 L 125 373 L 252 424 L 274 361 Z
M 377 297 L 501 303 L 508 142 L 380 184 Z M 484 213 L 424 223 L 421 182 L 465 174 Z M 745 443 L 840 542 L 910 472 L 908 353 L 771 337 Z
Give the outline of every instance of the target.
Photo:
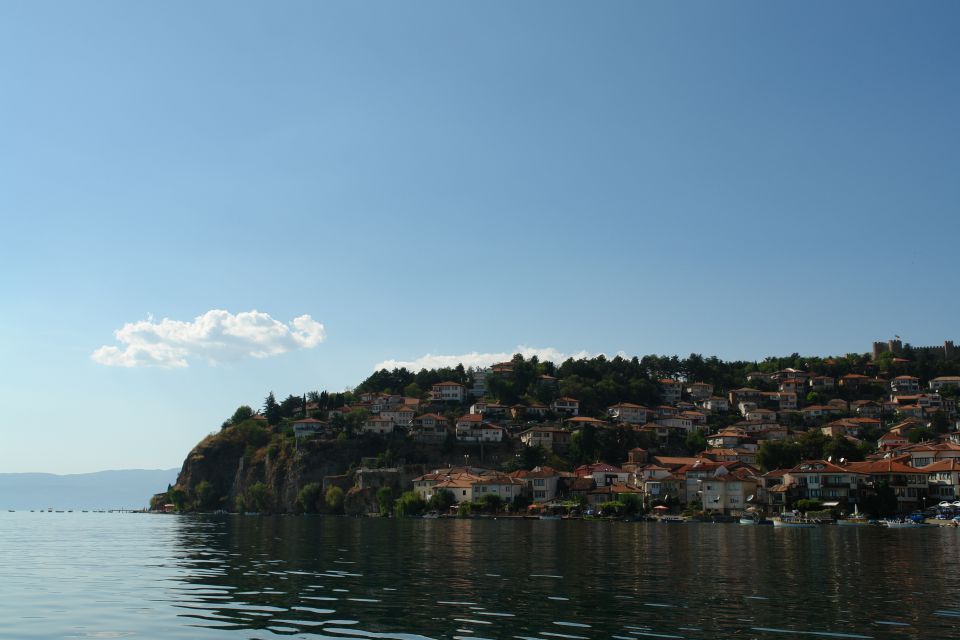
M 0 472 L 501 354 L 960 340 L 956 2 L 0 3 Z

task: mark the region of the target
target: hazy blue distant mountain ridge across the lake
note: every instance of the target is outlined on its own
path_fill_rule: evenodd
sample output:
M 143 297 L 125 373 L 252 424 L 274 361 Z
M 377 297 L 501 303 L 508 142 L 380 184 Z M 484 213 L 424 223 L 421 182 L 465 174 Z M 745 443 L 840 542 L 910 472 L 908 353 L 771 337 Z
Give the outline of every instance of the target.
M 178 471 L 0 473 L 0 509 L 142 509 L 150 496 L 177 481 Z

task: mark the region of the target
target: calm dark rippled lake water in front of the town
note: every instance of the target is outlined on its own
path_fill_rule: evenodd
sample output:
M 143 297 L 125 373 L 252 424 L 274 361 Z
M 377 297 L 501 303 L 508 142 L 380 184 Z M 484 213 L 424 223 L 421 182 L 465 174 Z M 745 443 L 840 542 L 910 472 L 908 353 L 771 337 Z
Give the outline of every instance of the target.
M 0 513 L 3 638 L 960 638 L 960 531 Z

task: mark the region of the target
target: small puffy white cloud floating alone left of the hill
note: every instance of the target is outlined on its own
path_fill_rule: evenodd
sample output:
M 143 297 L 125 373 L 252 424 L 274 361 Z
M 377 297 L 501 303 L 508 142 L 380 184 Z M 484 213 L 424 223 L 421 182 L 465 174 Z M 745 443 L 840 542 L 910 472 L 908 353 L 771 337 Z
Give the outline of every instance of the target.
M 243 311 L 236 315 L 211 309 L 192 322 L 152 317 L 128 322 L 114 331 L 120 346 L 104 345 L 93 352 L 95 362 L 114 367 L 187 367 L 191 360 L 210 364 L 241 358 L 269 358 L 295 349 L 312 349 L 326 337 L 319 322 L 308 315 L 290 324 L 267 313 Z

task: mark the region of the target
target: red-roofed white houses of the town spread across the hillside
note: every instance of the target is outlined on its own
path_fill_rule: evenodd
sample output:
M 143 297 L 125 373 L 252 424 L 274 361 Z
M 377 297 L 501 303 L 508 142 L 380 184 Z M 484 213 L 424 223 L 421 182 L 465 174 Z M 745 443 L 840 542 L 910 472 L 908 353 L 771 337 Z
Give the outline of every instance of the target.
M 871 362 L 901 352 L 899 342 L 877 343 Z M 942 357 L 953 356 L 947 342 Z M 910 513 L 960 495 L 960 375 L 833 377 L 784 368 L 749 372 L 748 386 L 732 389 L 665 377 L 655 381 L 653 406 L 621 401 L 598 413 L 560 395 L 557 377 L 546 374 L 533 384 L 543 390 L 540 397 L 552 396 L 549 402 L 501 402 L 490 383 L 510 381 L 515 364 L 471 370 L 465 382 L 440 380 L 423 397 L 360 391 L 353 402 L 322 415 L 316 400 L 305 402 L 311 417 L 292 420 L 293 431 L 297 440 L 343 437 L 352 415 L 358 432 L 352 435 L 402 437 L 428 447 L 472 445 L 476 453 L 462 463 L 429 469 L 400 487 L 427 502 L 449 492 L 454 509 L 491 499 L 534 512 L 639 501 L 644 510 L 695 505 L 708 514 L 736 515 L 808 500 L 844 512 Z M 584 440 L 601 434 L 644 446 L 615 452 L 614 460 L 568 464 L 572 448 L 582 450 Z M 834 445 L 838 454 L 767 468 L 775 461 L 770 451 L 798 439 Z M 684 445 L 699 450 L 678 452 Z M 504 464 L 505 447 L 536 450 L 525 457 L 538 464 L 516 468 L 520 453 Z M 497 464 L 485 465 L 489 460 Z M 357 475 L 364 472 L 387 477 L 375 467 Z

